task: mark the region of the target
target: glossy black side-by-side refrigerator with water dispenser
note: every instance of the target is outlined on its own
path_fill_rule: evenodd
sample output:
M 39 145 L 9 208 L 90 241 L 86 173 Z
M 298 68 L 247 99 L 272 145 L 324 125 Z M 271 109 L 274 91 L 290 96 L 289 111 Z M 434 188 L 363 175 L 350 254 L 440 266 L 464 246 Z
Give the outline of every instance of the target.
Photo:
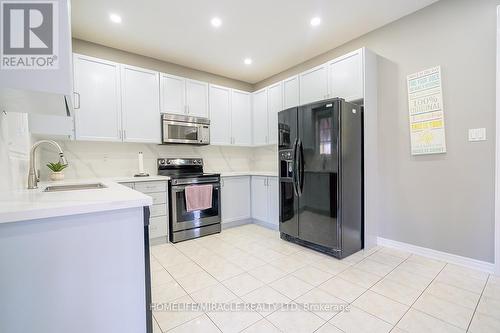
M 363 110 L 331 99 L 278 114 L 282 239 L 345 258 L 363 248 Z

